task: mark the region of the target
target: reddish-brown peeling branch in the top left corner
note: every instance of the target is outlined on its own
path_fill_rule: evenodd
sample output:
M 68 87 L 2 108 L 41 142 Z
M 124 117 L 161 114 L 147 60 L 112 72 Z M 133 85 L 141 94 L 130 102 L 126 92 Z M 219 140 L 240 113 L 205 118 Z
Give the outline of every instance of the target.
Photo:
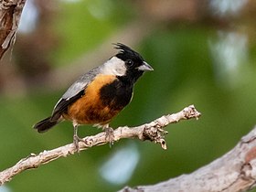
M 0 2 L 0 59 L 15 43 L 16 30 L 26 0 Z

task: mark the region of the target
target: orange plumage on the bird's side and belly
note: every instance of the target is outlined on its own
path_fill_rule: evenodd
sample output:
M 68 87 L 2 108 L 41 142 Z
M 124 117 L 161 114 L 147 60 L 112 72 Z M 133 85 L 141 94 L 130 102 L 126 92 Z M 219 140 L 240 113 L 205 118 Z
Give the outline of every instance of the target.
M 98 75 L 87 86 L 85 94 L 69 105 L 67 114 L 63 115 L 64 118 L 80 124 L 109 123 L 119 111 L 103 105 L 100 100 L 100 90 L 102 86 L 112 83 L 113 80 L 115 76 Z

